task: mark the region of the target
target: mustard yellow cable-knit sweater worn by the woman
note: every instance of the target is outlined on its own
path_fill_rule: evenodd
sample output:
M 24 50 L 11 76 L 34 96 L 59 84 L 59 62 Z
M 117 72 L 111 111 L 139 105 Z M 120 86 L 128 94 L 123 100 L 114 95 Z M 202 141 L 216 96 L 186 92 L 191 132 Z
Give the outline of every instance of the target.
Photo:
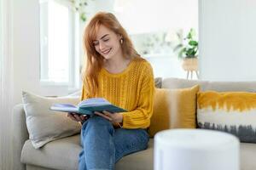
M 98 77 L 96 96 L 90 96 L 85 85 L 81 99 L 101 97 L 113 105 L 124 108 L 124 128 L 147 128 L 153 113 L 154 74 L 144 59 L 132 59 L 125 71 L 109 73 L 102 68 Z

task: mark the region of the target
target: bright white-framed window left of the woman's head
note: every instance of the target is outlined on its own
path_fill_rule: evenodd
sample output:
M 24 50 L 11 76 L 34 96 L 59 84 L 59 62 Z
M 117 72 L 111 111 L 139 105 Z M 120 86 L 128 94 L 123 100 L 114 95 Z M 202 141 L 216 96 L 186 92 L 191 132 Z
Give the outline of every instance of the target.
M 40 82 L 79 86 L 79 16 L 67 1 L 40 1 Z

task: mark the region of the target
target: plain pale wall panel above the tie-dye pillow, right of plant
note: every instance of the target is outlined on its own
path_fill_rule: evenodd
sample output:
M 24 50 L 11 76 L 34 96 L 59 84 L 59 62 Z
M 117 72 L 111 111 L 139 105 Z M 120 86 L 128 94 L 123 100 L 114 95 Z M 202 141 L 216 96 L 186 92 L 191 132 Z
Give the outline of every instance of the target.
M 256 1 L 200 0 L 201 79 L 256 80 Z

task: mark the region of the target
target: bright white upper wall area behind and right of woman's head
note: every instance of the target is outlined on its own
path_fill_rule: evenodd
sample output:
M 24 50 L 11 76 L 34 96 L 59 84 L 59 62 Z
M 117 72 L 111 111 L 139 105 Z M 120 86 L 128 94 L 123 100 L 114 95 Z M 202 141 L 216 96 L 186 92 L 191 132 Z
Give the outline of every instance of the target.
M 170 28 L 197 31 L 197 6 L 198 0 L 119 0 L 114 9 L 128 33 L 137 34 Z

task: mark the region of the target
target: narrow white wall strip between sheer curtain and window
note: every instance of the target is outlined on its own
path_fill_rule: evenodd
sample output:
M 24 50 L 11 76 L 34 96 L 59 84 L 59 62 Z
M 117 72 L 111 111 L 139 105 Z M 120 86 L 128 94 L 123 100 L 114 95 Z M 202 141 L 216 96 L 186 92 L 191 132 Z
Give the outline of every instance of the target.
M 38 1 L 25 0 L 13 3 L 13 55 L 15 101 L 19 102 L 21 90 L 37 88 L 39 66 Z M 36 8 L 35 8 L 36 7 Z

